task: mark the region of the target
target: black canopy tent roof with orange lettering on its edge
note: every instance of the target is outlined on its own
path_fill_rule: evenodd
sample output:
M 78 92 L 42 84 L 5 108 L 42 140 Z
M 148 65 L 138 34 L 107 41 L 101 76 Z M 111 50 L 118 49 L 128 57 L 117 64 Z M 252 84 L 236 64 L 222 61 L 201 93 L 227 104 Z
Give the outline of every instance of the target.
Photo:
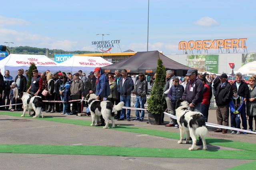
M 162 59 L 166 70 L 174 70 L 176 76 L 185 76 L 188 69 L 192 69 L 191 67 L 166 57 L 159 51 L 145 51 L 137 52 L 132 57 L 102 67 L 102 71 L 114 73 L 116 69 L 126 69 L 129 74 L 146 73 L 147 75 L 153 75 L 156 73 L 157 60 L 159 57 Z

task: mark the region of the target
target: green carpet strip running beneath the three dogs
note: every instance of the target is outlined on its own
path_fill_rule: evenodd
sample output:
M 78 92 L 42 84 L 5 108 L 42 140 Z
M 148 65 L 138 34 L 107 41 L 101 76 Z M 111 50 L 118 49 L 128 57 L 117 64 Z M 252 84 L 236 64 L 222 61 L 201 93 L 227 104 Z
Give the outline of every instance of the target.
M 9 115 L 9 116 L 15 116 L 20 117 L 20 113 L 15 112 L 0 112 L 0 115 Z M 26 114 L 27 115 L 27 114 Z M 33 119 L 32 117 L 25 117 Z M 76 119 L 67 119 L 67 118 L 60 118 L 60 117 L 53 117 L 53 116 L 45 116 L 45 118 L 38 118 L 44 121 L 54 121 L 59 123 L 69 123 L 74 125 L 83 125 L 83 126 L 90 126 L 90 121 L 85 120 L 76 120 Z M 111 124 L 110 124 L 111 126 Z M 102 127 L 100 127 L 102 128 Z M 177 132 L 170 132 L 170 131 L 164 131 L 164 130 L 155 130 L 155 129 L 149 129 L 149 128 L 140 128 L 135 126 L 125 126 L 120 125 L 116 126 L 116 128 L 110 128 L 111 130 L 121 130 L 126 132 L 134 132 L 134 133 L 140 133 L 140 134 L 149 134 L 153 136 L 161 136 L 166 138 L 174 138 L 179 139 L 180 134 Z M 206 138 L 207 144 L 214 144 L 218 146 L 225 146 L 225 147 L 231 147 L 231 148 L 238 148 L 238 149 L 244 149 L 244 150 L 251 150 L 256 151 L 256 144 L 249 143 L 249 142 L 240 142 L 240 141 L 234 141 L 234 140 L 226 140 L 226 139 L 219 139 L 219 138 L 213 138 L 213 137 L 207 137 Z

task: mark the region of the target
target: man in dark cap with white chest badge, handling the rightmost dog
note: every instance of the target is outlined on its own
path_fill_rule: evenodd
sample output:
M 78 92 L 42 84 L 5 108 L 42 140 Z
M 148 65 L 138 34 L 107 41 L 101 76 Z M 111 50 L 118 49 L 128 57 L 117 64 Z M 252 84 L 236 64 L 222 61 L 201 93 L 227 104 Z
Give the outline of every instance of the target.
M 189 77 L 189 81 L 186 85 L 182 99 L 189 103 L 192 111 L 201 113 L 204 83 L 197 77 L 197 71 L 194 69 L 189 69 L 186 76 Z

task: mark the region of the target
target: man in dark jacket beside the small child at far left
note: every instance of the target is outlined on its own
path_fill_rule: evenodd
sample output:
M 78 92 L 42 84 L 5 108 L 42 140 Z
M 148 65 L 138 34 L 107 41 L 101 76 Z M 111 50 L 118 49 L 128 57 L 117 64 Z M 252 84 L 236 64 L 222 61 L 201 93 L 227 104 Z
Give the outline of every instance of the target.
M 26 92 L 27 89 L 27 79 L 24 75 L 22 75 L 22 70 L 19 69 L 18 70 L 18 75 L 15 77 L 14 79 L 16 85 L 18 86 L 18 90 L 19 90 L 19 99 L 17 99 L 17 104 L 18 103 L 22 103 L 21 97 L 23 95 L 23 92 Z M 17 105 L 17 111 L 22 111 L 22 105 Z

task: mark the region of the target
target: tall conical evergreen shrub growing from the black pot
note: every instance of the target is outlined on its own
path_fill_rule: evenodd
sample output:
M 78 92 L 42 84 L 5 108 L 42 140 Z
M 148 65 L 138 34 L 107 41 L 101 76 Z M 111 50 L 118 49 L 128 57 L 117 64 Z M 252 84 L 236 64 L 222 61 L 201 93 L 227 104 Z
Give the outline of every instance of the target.
M 148 111 L 152 114 L 160 114 L 164 112 L 164 85 L 165 85 L 166 69 L 163 61 L 158 58 L 156 67 L 156 78 L 152 87 L 150 98 L 148 99 Z

